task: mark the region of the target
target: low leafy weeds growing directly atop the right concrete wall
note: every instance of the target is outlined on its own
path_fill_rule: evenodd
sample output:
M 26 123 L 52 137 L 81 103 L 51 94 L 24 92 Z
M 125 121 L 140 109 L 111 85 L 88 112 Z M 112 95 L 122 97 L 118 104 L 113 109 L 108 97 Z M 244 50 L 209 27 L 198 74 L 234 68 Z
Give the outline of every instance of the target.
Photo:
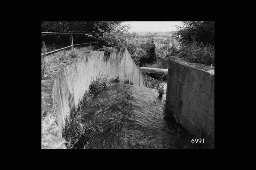
M 181 45 L 179 57 L 183 57 L 189 62 L 214 65 L 214 46 L 198 42 L 186 42 Z

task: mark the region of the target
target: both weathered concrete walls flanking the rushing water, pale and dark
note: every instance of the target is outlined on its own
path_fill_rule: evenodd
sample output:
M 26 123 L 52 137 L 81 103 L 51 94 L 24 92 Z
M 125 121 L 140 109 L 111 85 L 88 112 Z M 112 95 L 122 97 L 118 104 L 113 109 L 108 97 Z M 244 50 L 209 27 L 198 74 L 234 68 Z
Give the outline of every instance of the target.
M 48 89 L 42 97 L 42 149 L 66 149 L 62 137 L 65 118 L 78 109 L 99 74 L 144 86 L 143 75 L 127 49 L 111 54 L 93 51 L 60 68 L 53 79 L 42 80 L 42 88 Z M 214 69 L 171 57 L 167 77 L 166 105 L 178 122 L 198 137 L 214 140 Z

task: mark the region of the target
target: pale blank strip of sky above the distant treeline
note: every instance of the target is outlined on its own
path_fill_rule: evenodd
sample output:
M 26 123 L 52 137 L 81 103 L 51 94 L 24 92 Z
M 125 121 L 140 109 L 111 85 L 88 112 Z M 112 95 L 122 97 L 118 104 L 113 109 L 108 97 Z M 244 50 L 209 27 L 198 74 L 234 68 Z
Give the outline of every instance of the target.
M 176 26 L 181 26 L 180 21 L 127 21 L 130 24 L 129 31 L 176 31 Z

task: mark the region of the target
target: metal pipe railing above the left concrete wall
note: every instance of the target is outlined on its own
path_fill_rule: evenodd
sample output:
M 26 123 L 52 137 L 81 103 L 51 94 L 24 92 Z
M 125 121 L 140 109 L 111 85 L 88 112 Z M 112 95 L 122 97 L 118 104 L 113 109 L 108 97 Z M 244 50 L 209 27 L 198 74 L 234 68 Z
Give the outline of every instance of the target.
M 45 53 L 45 54 L 42 54 L 41 56 L 44 56 L 44 55 L 49 55 L 49 54 L 52 54 L 52 53 L 55 53 L 57 51 L 61 51 L 61 50 L 64 50 L 64 49 L 67 49 L 67 48 L 73 48 L 73 46 L 75 45 L 84 45 L 84 44 L 93 44 L 93 43 L 97 43 L 96 42 L 89 42 L 89 43 L 82 43 L 82 44 L 73 44 L 73 34 L 102 34 L 102 33 L 105 33 L 105 32 L 78 32 L 78 31 L 70 31 L 70 32 L 42 32 L 41 35 L 42 36 L 47 36 L 47 35 L 70 35 L 70 46 L 67 46 L 67 47 L 64 47 L 64 48 L 60 48 L 58 50 L 55 50 L 55 51 L 50 51 L 48 53 Z

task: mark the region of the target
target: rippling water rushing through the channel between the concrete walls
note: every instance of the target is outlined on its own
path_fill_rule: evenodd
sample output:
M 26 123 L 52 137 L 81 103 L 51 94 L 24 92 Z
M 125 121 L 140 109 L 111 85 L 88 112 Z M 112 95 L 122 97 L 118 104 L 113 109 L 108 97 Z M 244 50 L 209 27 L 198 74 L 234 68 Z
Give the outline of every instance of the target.
M 155 89 L 111 84 L 82 108 L 82 114 L 102 126 L 103 130 L 94 136 L 88 148 L 179 148 L 182 144 L 177 144 L 177 130 L 163 119 L 164 100 L 165 95 L 159 99 Z

